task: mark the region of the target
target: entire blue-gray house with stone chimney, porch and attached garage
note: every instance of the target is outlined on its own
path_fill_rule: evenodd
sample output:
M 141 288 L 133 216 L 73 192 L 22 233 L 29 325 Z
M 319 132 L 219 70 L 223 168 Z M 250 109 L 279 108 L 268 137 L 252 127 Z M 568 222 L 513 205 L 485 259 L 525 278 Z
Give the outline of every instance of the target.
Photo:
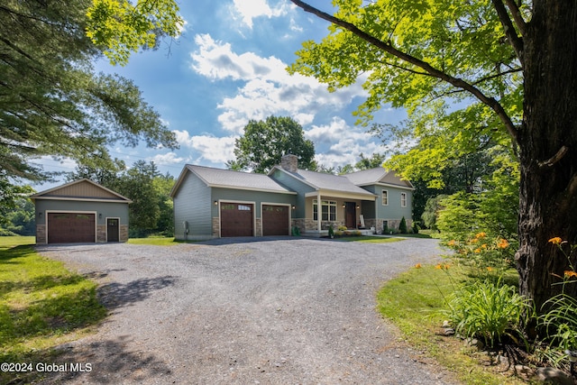
M 411 224 L 413 187 L 384 169 L 345 176 L 299 170 L 286 155 L 268 175 L 187 165 L 170 195 L 175 238 L 228 236 L 320 236 L 334 228 Z M 386 195 L 383 198 L 383 194 Z

